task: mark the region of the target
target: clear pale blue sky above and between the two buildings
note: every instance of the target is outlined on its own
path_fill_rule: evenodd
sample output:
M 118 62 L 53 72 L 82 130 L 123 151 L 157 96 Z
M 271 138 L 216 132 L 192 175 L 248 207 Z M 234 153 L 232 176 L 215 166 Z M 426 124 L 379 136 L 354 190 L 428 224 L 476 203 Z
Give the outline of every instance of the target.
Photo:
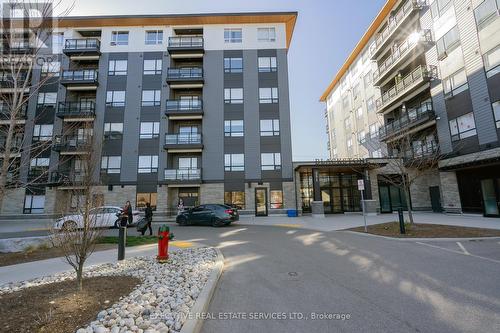
M 326 105 L 330 81 L 385 0 L 62 0 L 70 16 L 297 11 L 288 51 L 293 160 L 328 158 Z

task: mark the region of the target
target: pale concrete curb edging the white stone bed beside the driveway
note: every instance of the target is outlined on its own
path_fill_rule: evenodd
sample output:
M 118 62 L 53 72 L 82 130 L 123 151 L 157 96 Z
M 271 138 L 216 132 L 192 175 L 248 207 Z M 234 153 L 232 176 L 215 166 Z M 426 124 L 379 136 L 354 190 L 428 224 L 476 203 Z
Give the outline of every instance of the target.
M 217 282 L 219 281 L 222 275 L 222 270 L 224 269 L 224 256 L 219 249 L 214 249 L 217 252 L 215 267 L 212 269 L 207 283 L 201 290 L 196 302 L 189 311 L 189 316 L 184 322 L 184 325 L 182 325 L 180 333 L 199 333 L 201 331 L 203 326 L 203 318 L 201 314 L 207 312 L 210 300 L 212 299 L 215 288 L 217 287 Z

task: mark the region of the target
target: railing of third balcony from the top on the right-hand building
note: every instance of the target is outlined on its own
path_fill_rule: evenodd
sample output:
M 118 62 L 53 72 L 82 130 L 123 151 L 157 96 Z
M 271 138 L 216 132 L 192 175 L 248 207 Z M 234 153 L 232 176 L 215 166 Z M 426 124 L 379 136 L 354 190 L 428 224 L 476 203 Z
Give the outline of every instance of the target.
M 429 66 L 429 68 L 425 66 L 417 67 L 411 73 L 402 78 L 398 83 L 396 83 L 392 88 L 383 93 L 382 97 L 377 99 L 377 111 L 380 112 L 380 110 L 387 106 L 389 103 L 395 101 L 399 97 L 409 92 L 410 88 L 414 87 L 417 83 L 435 77 L 436 72 L 437 70 L 435 66 Z

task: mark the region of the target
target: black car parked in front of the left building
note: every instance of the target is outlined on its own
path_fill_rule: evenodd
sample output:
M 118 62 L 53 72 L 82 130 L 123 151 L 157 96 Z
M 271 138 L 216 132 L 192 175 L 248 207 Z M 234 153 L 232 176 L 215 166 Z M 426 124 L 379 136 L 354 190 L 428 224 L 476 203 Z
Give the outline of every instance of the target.
M 180 225 L 203 224 L 214 227 L 229 225 L 238 221 L 238 210 L 227 205 L 207 204 L 187 209 L 177 215 L 176 222 Z

